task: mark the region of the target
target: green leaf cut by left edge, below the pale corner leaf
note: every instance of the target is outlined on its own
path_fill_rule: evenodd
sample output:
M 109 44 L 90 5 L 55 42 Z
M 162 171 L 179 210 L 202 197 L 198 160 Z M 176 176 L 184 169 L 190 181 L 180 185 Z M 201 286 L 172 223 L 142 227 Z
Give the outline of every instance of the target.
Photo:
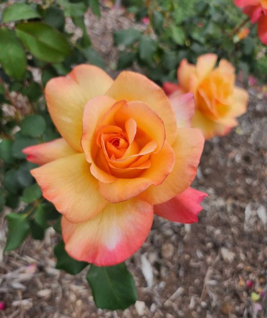
M 0 63 L 8 76 L 20 81 L 26 72 L 26 54 L 14 31 L 0 28 Z

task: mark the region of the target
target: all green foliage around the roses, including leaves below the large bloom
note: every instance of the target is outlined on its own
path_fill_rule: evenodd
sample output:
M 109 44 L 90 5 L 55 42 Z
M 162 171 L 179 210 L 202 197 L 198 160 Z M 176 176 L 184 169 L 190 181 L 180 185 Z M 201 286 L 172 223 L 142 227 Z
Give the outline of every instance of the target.
M 195 62 L 198 55 L 215 52 L 242 70 L 244 78 L 253 74 L 266 81 L 266 47 L 250 22 L 249 35 L 236 38 L 246 17 L 232 0 L 124 0 L 122 5 L 146 27 L 143 32 L 138 28 L 114 32 L 117 70 L 136 65 L 162 84 L 176 80 L 182 58 Z M 84 16 L 89 8 L 100 16 L 97 0 L 22 0 L 0 5 L 0 211 L 4 206 L 12 211 L 6 217 L 6 251 L 18 248 L 29 234 L 43 239 L 50 226 L 60 233 L 60 215 L 42 198 L 29 172 L 37 165 L 26 161 L 22 149 L 59 137 L 43 96 L 49 79 L 68 74 L 80 63 L 106 67 L 86 30 Z M 71 259 L 62 241 L 55 247 L 55 256 L 57 268 L 71 274 L 88 265 Z M 127 292 L 121 290 L 118 271 Z M 107 285 L 104 296 L 97 275 Z M 136 300 L 132 277 L 123 264 L 113 269 L 91 267 L 87 277 L 98 307 L 126 308 Z M 116 283 L 109 290 L 112 280 Z

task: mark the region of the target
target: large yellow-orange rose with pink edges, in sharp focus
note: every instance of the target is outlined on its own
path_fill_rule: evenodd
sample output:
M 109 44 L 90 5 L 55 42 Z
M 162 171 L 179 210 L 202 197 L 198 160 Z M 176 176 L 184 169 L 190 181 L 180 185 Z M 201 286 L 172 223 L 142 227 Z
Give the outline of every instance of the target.
M 204 138 L 182 127 L 192 94 L 173 109 L 145 76 L 80 65 L 45 88 L 51 118 L 62 136 L 24 149 L 41 166 L 31 170 L 63 215 L 65 249 L 98 266 L 123 262 L 145 241 L 153 214 L 192 223 L 205 193 L 189 187 Z M 189 106 L 186 106 L 186 103 Z M 186 106 L 186 107 L 185 107 Z

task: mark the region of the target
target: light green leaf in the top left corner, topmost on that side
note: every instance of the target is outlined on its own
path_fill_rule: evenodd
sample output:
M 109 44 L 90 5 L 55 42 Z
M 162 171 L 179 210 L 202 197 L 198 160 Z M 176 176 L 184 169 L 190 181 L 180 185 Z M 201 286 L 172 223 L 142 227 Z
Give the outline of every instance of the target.
M 11 21 L 29 20 L 34 18 L 40 18 L 40 15 L 31 6 L 15 3 L 3 11 L 2 20 L 4 23 L 7 23 Z

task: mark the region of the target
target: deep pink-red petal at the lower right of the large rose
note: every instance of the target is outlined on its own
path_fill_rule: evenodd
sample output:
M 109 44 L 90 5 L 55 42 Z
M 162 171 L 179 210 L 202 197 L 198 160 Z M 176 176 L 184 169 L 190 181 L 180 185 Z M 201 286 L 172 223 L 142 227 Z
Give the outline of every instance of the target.
M 206 193 L 188 187 L 171 200 L 154 206 L 154 213 L 173 222 L 194 223 L 203 209 L 199 203 L 205 197 L 208 197 Z

